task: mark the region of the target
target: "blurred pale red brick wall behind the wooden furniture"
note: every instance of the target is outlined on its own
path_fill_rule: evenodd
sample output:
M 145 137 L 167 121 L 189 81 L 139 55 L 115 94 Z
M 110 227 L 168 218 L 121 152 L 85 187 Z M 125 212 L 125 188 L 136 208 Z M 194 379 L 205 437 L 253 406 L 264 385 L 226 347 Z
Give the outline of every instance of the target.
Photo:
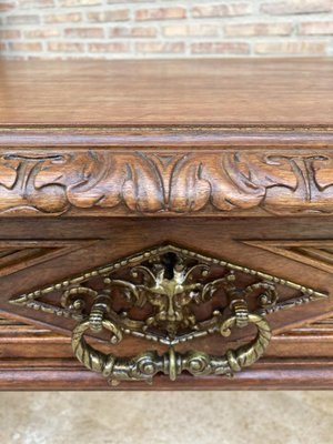
M 333 56 L 333 0 L 0 0 L 0 54 Z

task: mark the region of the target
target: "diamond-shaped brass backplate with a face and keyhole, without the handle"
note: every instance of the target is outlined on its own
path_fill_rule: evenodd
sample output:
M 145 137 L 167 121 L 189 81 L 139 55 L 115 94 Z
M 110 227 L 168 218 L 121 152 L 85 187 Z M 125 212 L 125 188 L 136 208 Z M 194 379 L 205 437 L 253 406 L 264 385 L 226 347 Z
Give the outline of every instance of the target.
M 13 297 L 13 304 L 73 317 L 89 315 L 99 295 L 124 333 L 175 344 L 214 332 L 233 300 L 266 315 L 326 296 L 279 276 L 174 245 L 121 259 L 48 287 Z

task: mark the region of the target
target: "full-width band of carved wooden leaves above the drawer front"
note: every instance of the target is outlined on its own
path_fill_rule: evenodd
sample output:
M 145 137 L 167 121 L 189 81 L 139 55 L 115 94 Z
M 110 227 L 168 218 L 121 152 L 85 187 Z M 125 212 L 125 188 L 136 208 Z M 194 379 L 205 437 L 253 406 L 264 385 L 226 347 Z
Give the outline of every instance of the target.
M 0 213 L 332 213 L 330 155 L 89 150 L 0 158 Z

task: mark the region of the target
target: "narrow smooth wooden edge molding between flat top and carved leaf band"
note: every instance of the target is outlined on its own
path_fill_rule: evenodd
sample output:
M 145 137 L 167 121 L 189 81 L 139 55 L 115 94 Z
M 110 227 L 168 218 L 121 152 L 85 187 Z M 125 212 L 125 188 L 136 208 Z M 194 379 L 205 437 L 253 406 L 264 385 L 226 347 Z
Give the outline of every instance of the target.
M 200 151 L 228 149 L 333 149 L 333 127 L 326 124 L 33 124 L 3 125 L 0 123 L 0 148 L 46 147 L 73 148 L 151 148 Z M 130 147 L 130 148 L 129 148 Z

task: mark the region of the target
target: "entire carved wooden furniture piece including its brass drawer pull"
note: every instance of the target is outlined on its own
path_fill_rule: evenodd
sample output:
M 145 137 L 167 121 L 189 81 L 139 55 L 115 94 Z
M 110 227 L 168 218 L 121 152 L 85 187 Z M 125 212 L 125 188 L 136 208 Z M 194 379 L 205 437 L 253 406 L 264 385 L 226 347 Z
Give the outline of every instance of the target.
M 0 387 L 333 386 L 333 60 L 0 61 Z

